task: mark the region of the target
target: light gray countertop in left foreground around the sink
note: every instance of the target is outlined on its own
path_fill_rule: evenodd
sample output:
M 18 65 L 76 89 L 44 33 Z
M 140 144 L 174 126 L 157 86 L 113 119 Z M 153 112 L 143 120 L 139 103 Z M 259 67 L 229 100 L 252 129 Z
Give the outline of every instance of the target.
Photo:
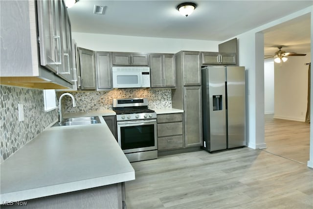
M 0 201 L 22 201 L 134 180 L 134 169 L 103 114 L 96 114 L 101 124 L 48 127 L 1 163 Z

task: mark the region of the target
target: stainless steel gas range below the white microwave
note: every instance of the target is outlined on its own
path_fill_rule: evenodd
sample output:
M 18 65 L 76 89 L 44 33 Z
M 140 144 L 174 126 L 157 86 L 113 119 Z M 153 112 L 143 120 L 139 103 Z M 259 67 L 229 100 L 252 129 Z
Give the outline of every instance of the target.
M 113 99 L 117 141 L 130 162 L 157 158 L 156 113 L 147 98 Z

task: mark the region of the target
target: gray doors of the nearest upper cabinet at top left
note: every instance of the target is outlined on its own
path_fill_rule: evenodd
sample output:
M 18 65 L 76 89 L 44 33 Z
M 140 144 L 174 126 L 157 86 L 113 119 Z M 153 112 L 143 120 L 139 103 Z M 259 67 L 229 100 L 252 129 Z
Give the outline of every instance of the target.
M 73 57 L 67 7 L 60 0 L 37 1 L 37 7 L 41 65 L 71 82 Z

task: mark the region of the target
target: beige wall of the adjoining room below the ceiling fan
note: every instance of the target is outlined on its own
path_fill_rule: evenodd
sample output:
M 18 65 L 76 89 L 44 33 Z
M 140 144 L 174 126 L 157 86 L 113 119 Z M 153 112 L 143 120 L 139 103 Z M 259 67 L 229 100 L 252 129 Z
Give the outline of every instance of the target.
M 302 52 L 306 53 L 306 52 Z M 308 68 L 311 53 L 275 63 L 275 118 L 305 121 L 308 102 Z

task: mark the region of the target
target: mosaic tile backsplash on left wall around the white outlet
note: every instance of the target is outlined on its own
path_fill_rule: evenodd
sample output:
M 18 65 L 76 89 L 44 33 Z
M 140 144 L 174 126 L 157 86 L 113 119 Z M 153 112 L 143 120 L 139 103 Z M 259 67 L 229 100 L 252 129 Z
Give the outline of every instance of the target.
M 2 163 L 57 120 L 58 110 L 44 112 L 42 90 L 0 85 L 0 97 L 0 163 Z M 24 120 L 21 122 L 18 104 L 23 104 Z

